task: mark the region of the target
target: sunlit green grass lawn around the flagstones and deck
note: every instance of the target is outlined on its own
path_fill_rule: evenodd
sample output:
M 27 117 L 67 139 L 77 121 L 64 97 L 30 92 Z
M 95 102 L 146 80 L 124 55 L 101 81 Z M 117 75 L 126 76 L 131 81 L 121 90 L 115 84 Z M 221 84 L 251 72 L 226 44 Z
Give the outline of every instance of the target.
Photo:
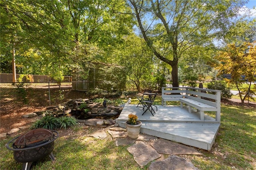
M 132 104 L 138 103 L 136 97 Z M 161 103 L 161 98 L 156 98 Z M 52 162 L 49 157 L 34 162 L 32 168 L 36 170 L 138 170 L 141 169 L 127 151 L 127 146 L 116 147 L 114 140 L 108 134 L 104 140 L 87 136 L 100 128 L 89 127 L 70 128 L 65 135 L 55 141 Z M 3 170 L 22 169 L 22 163 L 16 163 L 13 152 L 4 146 L 8 137 L 1 140 L 0 165 Z M 184 157 L 200 170 L 254 170 L 256 169 L 256 109 L 222 105 L 221 125 L 219 134 L 210 152 L 199 149 L 204 155 L 178 155 Z M 164 155 L 165 158 L 168 155 Z M 150 164 L 145 166 L 148 169 Z

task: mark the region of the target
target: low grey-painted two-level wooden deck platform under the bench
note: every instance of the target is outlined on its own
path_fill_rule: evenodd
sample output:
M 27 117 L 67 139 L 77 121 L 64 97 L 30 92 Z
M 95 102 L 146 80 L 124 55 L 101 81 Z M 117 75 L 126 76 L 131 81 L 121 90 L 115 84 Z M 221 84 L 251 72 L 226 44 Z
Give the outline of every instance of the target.
M 215 141 L 220 123 L 215 118 L 204 115 L 204 121 L 200 120 L 200 114 L 192 109 L 188 113 L 188 108 L 180 106 L 157 105 L 158 111 L 154 116 L 150 111 L 144 112 L 137 105 L 126 104 L 116 122 L 120 127 L 126 127 L 130 113 L 137 115 L 142 122 L 140 132 L 150 134 L 159 138 L 172 140 L 182 144 L 187 144 L 205 150 L 211 150 Z

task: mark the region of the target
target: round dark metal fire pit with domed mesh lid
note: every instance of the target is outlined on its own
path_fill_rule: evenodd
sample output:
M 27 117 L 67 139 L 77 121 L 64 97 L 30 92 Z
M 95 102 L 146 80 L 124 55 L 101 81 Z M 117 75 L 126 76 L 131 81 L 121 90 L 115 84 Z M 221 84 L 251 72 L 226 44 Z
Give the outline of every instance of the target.
M 52 150 L 54 149 L 54 140 L 57 138 L 57 131 L 39 128 L 12 139 L 6 144 L 6 148 L 13 150 L 14 160 L 23 163 L 23 170 L 30 170 L 34 161 L 47 155 L 54 161 Z M 12 148 L 10 148 L 10 144 L 12 144 Z

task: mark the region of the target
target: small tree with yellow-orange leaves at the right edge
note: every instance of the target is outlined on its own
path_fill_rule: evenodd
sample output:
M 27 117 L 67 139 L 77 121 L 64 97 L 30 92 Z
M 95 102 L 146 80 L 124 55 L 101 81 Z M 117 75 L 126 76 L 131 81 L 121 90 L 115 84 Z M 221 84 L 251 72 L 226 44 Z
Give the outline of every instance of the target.
M 216 69 L 221 74 L 231 74 L 230 83 L 234 84 L 238 89 L 241 102 L 244 103 L 246 97 L 251 91 L 252 82 L 256 80 L 256 42 L 244 42 L 240 45 L 235 43 L 228 44 L 218 55 L 216 55 L 219 63 Z M 242 75 L 248 80 L 248 89 L 242 89 L 241 85 L 244 83 Z

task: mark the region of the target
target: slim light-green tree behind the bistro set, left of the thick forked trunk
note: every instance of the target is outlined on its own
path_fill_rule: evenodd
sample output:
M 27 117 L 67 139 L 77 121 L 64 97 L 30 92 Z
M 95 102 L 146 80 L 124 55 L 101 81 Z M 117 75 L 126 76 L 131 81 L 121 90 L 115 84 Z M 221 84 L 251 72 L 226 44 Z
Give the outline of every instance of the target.
M 122 48 L 116 51 L 118 61 L 126 70 L 129 82 L 137 91 L 149 88 L 154 70 L 154 57 L 143 38 L 134 34 L 125 37 Z

